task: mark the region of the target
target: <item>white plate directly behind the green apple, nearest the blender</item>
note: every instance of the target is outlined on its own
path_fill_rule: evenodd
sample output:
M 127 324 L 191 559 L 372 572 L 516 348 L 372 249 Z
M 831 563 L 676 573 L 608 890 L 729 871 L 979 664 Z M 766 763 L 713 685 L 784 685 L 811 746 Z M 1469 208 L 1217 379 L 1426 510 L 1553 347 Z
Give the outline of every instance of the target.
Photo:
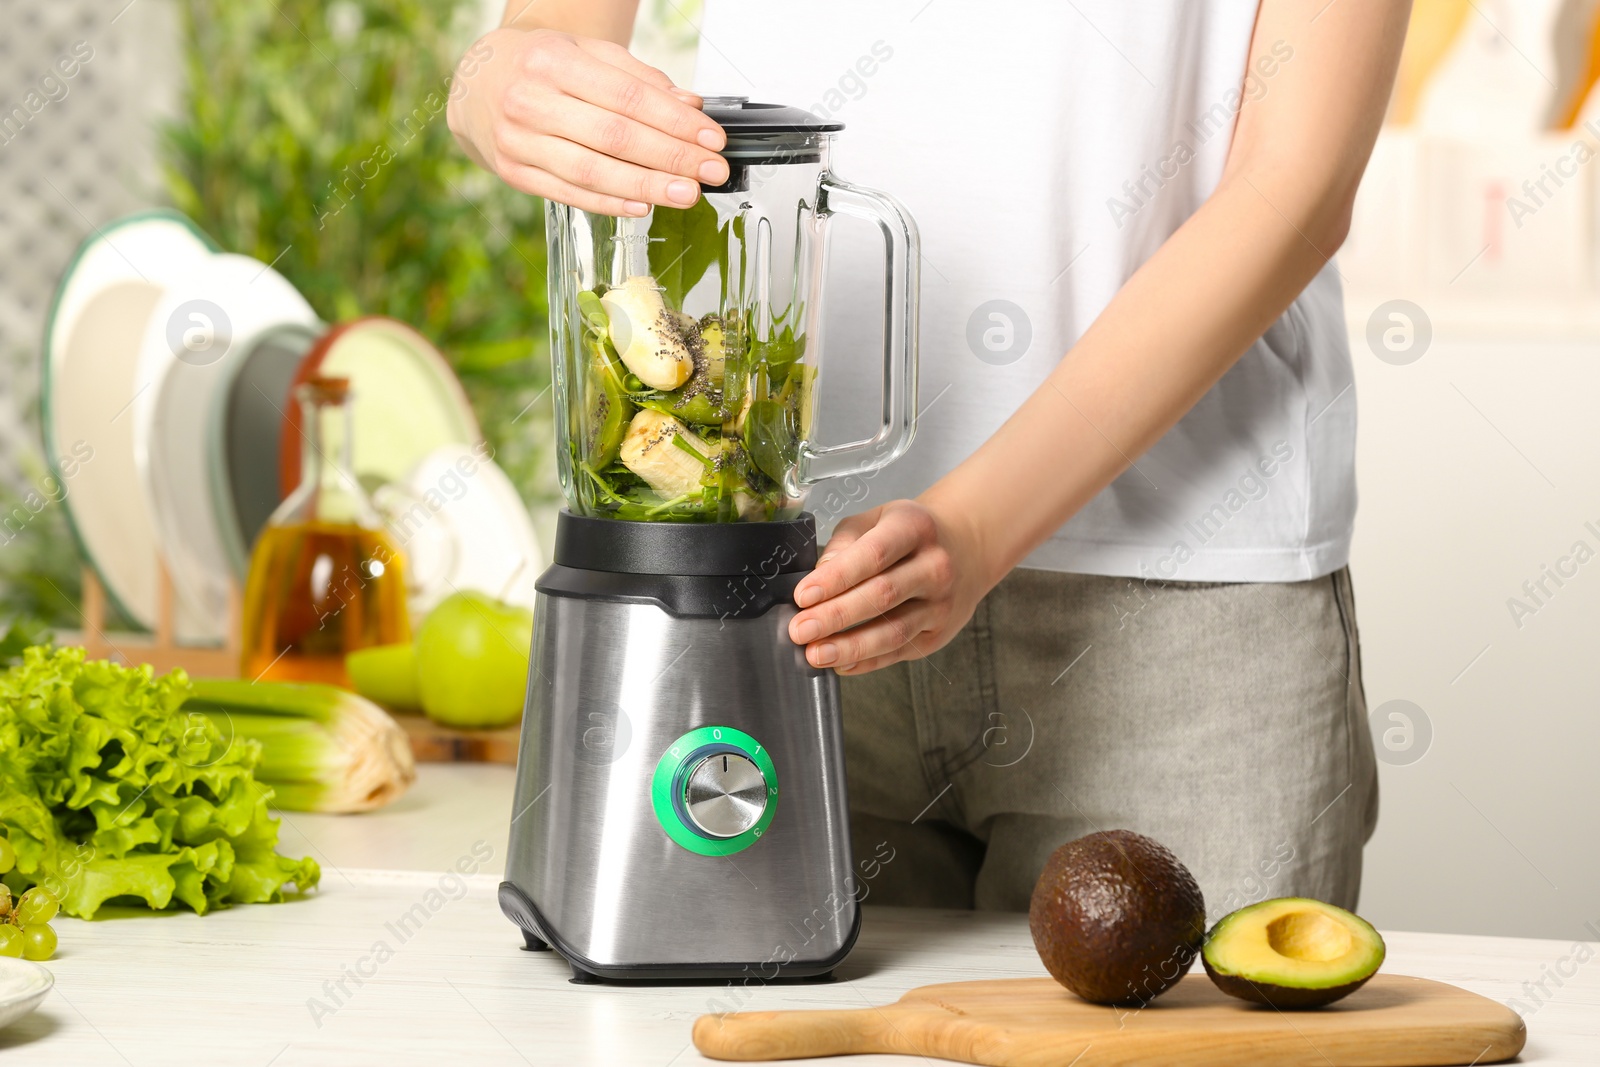
M 467 589 L 533 608 L 544 569 L 539 537 L 510 478 L 486 454 L 483 446 L 443 445 L 402 483 L 373 494 L 405 552 L 418 614 Z

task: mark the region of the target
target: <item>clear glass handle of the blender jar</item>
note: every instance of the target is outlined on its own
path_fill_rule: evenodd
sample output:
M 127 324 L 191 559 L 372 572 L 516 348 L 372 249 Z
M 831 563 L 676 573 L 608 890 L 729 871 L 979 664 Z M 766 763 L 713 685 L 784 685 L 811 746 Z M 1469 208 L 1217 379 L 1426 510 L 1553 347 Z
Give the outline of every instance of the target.
M 822 174 L 818 211 L 877 222 L 883 234 L 883 421 L 878 432 L 848 445 L 800 443 L 800 482 L 867 474 L 906 454 L 917 432 L 917 294 L 922 242 L 910 214 L 888 194 Z

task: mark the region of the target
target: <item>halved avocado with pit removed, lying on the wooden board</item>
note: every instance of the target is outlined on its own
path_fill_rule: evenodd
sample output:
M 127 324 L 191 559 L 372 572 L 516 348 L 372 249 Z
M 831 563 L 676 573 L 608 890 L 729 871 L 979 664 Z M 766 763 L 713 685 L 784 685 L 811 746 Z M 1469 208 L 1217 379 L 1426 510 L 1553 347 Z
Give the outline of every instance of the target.
M 1229 997 L 1283 1009 L 1320 1008 L 1378 973 L 1384 939 L 1342 907 L 1285 896 L 1221 918 L 1200 958 Z

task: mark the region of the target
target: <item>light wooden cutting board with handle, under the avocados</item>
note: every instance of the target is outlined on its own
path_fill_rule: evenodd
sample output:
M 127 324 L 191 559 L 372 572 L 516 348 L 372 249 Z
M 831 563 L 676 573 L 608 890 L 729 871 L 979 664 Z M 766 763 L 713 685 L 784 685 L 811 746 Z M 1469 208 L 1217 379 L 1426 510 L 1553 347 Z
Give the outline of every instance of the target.
M 1522 1017 L 1422 977 L 1378 974 L 1336 1005 L 1282 1013 L 1189 974 L 1149 1008 L 1099 1008 L 1048 977 L 950 982 L 853 1011 L 701 1016 L 712 1059 L 851 1053 L 936 1056 L 986 1067 L 1410 1067 L 1496 1064 L 1526 1040 Z

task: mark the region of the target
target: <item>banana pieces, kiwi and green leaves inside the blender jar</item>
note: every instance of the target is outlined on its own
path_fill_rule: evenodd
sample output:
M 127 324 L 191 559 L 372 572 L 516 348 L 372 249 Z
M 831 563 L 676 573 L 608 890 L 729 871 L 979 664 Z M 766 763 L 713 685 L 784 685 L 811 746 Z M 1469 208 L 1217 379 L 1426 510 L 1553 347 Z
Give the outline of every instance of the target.
M 704 267 L 702 267 L 704 269 Z M 578 296 L 566 382 L 571 478 L 590 515 L 787 518 L 814 373 L 798 309 L 754 339 L 741 315 L 691 318 L 650 275 Z

